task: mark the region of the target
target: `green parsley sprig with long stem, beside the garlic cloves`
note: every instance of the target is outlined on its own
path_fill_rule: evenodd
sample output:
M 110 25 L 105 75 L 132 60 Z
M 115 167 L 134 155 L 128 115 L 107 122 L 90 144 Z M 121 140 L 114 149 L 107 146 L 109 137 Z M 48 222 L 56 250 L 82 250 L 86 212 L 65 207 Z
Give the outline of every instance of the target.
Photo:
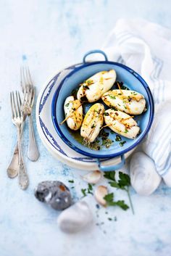
M 131 208 L 131 210 L 132 210 L 132 212 L 134 214 L 133 203 L 132 203 L 132 200 L 130 198 L 130 190 L 129 190 L 130 176 L 128 176 L 128 174 L 126 174 L 126 173 L 119 172 L 119 180 L 116 181 L 116 179 L 115 179 L 115 172 L 107 172 L 107 173 L 104 174 L 104 177 L 109 179 L 109 180 L 111 180 L 111 181 L 109 181 L 110 186 L 112 186 L 112 187 L 114 187 L 116 189 L 125 190 L 127 192 L 128 199 L 129 199 L 129 202 L 130 202 L 130 208 Z M 112 198 L 112 196 L 110 196 L 110 197 Z M 122 205 L 123 203 L 124 203 L 124 201 L 119 201 L 118 204 Z

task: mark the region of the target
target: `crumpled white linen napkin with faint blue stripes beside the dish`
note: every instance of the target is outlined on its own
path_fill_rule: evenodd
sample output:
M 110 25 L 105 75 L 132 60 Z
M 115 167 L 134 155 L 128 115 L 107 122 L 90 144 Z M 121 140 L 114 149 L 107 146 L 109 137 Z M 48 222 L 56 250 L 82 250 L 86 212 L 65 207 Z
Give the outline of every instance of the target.
M 155 115 L 143 151 L 171 186 L 171 30 L 145 20 L 118 20 L 103 47 L 109 60 L 128 65 L 151 88 Z

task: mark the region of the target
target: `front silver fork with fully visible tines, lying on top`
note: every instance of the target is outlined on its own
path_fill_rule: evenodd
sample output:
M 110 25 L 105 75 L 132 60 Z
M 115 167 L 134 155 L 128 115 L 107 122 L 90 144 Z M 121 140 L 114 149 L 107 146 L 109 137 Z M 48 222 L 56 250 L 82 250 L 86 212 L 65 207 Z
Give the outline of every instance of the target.
M 26 189 L 28 187 L 28 175 L 25 170 L 25 165 L 22 158 L 22 148 L 21 148 L 21 137 L 20 137 L 20 128 L 23 123 L 23 115 L 21 110 L 21 98 L 18 91 L 10 93 L 11 107 L 12 107 L 12 123 L 17 127 L 17 144 L 18 144 L 18 178 L 19 185 L 21 189 Z

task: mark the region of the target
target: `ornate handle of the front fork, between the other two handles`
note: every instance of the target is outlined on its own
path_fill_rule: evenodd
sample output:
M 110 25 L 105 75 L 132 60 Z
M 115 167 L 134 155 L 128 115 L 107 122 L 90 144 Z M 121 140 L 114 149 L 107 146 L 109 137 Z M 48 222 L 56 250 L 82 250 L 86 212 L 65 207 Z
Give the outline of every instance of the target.
M 22 148 L 21 148 L 21 138 L 20 138 L 20 126 L 17 126 L 17 136 L 18 136 L 18 178 L 19 185 L 21 189 L 27 189 L 28 187 L 28 174 L 25 170 L 25 165 L 22 158 Z

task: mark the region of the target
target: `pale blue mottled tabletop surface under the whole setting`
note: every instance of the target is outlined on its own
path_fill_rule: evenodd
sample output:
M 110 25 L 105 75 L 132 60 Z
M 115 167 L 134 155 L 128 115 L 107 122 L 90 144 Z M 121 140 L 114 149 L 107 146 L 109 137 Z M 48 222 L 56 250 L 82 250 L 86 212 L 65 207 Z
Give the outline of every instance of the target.
M 36 184 L 59 179 L 68 183 L 75 179 L 72 195 L 81 197 L 81 171 L 71 169 L 54 160 L 41 144 L 36 132 L 41 157 L 30 162 L 25 157 L 30 186 L 21 191 L 17 179 L 9 180 L 6 168 L 14 144 L 16 131 L 11 123 L 9 91 L 20 88 L 19 67 L 28 58 L 37 93 L 46 78 L 62 67 L 80 62 L 89 49 L 103 44 L 119 17 L 143 17 L 171 27 L 170 0 L 165 1 L 55 1 L 30 0 L 0 2 L 0 255 L 1 256 L 78 256 L 78 255 L 170 255 L 171 204 L 170 193 L 162 183 L 151 197 L 131 194 L 135 215 L 130 210 L 99 210 L 94 225 L 80 234 L 62 234 L 57 228 L 58 212 L 38 202 L 33 196 Z M 34 120 L 35 125 L 35 120 Z M 25 128 L 23 150 L 26 156 L 28 126 Z M 117 191 L 117 198 L 127 197 Z M 92 205 L 95 205 L 93 199 Z M 96 212 L 96 210 L 94 210 Z M 96 215 L 96 214 L 95 214 Z M 95 223 L 101 223 L 96 226 Z M 106 231 L 106 233 L 104 233 Z

